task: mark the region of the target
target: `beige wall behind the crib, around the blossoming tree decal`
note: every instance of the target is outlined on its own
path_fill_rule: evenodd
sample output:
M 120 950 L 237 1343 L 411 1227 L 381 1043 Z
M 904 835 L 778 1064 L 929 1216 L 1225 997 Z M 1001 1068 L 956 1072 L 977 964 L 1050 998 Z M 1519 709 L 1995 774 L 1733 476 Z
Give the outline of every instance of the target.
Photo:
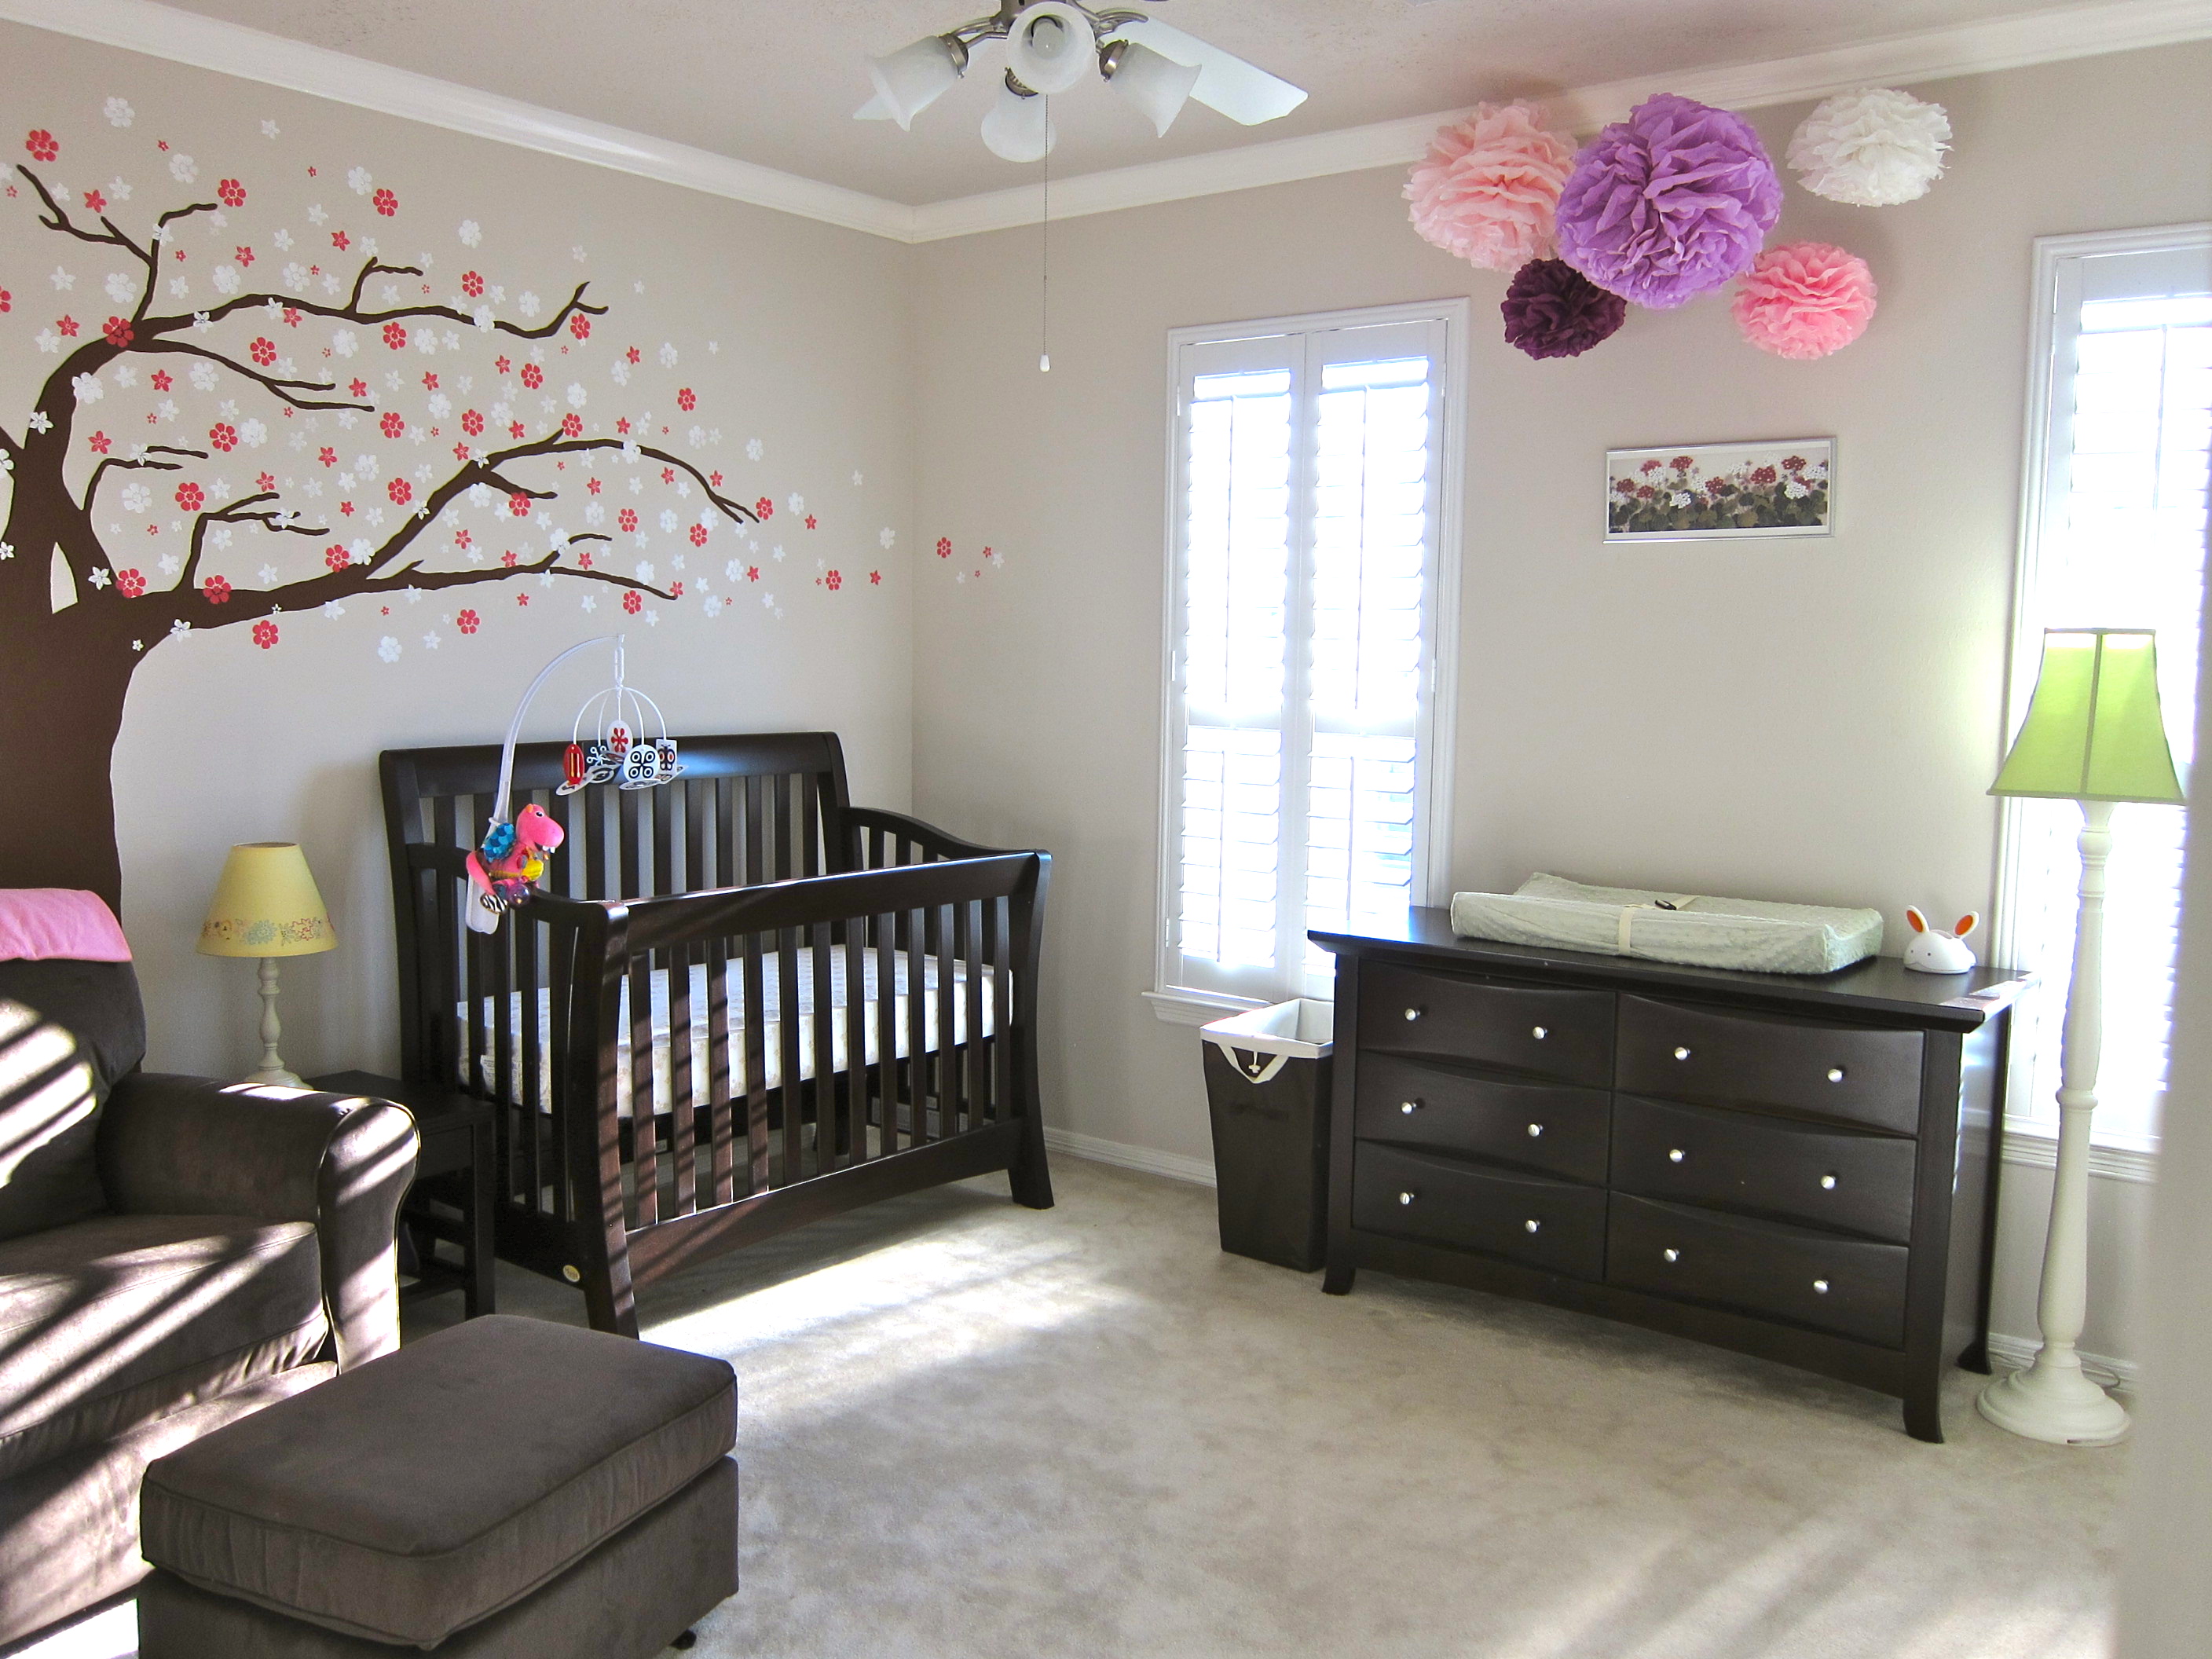
M 887 551 L 878 531 L 891 526 L 905 538 L 909 518 L 909 250 L 38 29 L 0 27 L 0 58 L 9 64 L 15 131 L 40 126 L 62 142 L 62 155 L 44 175 L 80 190 L 122 177 L 133 195 L 115 212 L 133 232 L 142 232 L 166 206 L 206 197 L 219 177 L 243 179 L 248 204 L 228 215 L 226 226 L 204 219 L 186 226 L 181 248 L 188 259 L 179 270 L 195 285 L 188 301 L 164 294 L 164 303 L 210 303 L 215 290 L 201 272 L 221 263 L 237 243 L 259 243 L 259 261 L 248 272 L 254 279 L 292 257 L 330 259 L 327 234 L 341 226 L 356 239 L 380 234 L 385 259 L 414 261 L 418 252 L 429 252 L 429 276 L 440 296 L 458 288 L 467 268 L 480 268 L 509 296 L 524 288 L 566 296 L 575 281 L 588 276 L 593 299 L 613 310 L 597 319 L 588 343 L 562 336 L 573 352 L 560 354 L 560 343 L 549 349 L 549 389 L 562 392 L 571 378 L 582 383 L 588 392 L 584 416 L 593 429 L 611 429 L 622 414 L 639 418 L 653 411 L 655 425 L 675 427 L 659 442 L 695 456 L 701 469 L 723 471 L 741 500 L 770 495 L 776 502 L 776 518 L 759 531 L 759 551 L 745 551 L 748 562 L 765 573 L 759 586 L 726 580 L 723 564 L 739 551 L 728 526 L 717 529 L 703 553 L 681 535 L 657 529 L 648 529 L 650 549 L 635 549 L 622 538 L 617 568 L 653 560 L 664 586 L 677 575 L 672 555 L 688 555 L 681 573 L 688 595 L 679 604 L 655 602 L 655 626 L 641 617 L 626 619 L 615 588 L 562 582 L 553 588 L 500 584 L 422 595 L 416 604 L 392 602 L 389 615 L 378 615 L 380 604 L 361 599 L 349 602 L 341 619 L 312 611 L 288 615 L 279 619 L 281 641 L 272 650 L 259 650 L 246 628 L 157 644 L 133 681 L 113 765 L 124 922 L 137 949 L 153 1029 L 148 1064 L 239 1073 L 259 1053 L 252 1042 L 252 964 L 192 953 L 223 849 L 248 838 L 296 838 L 305 845 L 341 940 L 334 953 L 285 969 L 285 1057 L 310 1073 L 396 1060 L 392 889 L 376 752 L 409 743 L 498 741 L 529 677 L 577 639 L 626 626 L 630 677 L 661 701 L 675 730 L 830 728 L 845 739 L 858 799 L 907 803 L 907 542 Z M 106 122 L 108 97 L 131 104 L 131 126 Z M 276 122 L 279 137 L 263 135 L 263 119 Z M 173 148 L 159 150 L 161 139 Z M 11 150 L 15 144 L 11 137 Z M 173 153 L 195 157 L 199 177 L 192 188 L 170 177 Z M 369 168 L 374 184 L 398 192 L 398 215 L 378 217 L 347 186 L 345 173 L 354 166 Z M 316 204 L 330 215 L 323 226 L 307 219 L 307 208 Z M 115 310 L 102 283 L 111 270 L 126 265 L 113 250 L 64 243 L 38 230 L 33 206 L 29 190 L 0 199 L 0 285 L 13 294 L 13 312 L 0 316 L 0 425 L 18 434 L 38 378 L 58 361 L 35 349 L 33 334 L 64 307 L 80 319 L 91 316 L 97 327 Z M 476 248 L 460 241 L 462 219 L 480 226 Z M 299 252 L 274 250 L 279 230 L 294 237 Z M 58 265 L 75 276 L 66 292 L 49 281 Z M 352 270 L 347 263 L 347 276 Z M 321 367 L 316 347 L 325 334 L 301 332 L 307 336 L 307 345 L 299 347 L 307 363 L 303 372 Z M 294 349 L 301 336 L 285 334 L 285 349 Z M 613 363 L 633 343 L 644 361 L 628 385 L 617 385 Z M 677 347 L 675 367 L 659 363 L 661 343 Z M 232 349 L 243 352 L 243 341 Z M 478 349 L 471 336 L 460 354 L 420 358 L 407 349 L 387 356 L 380 343 L 365 336 L 352 363 L 378 376 L 378 396 L 389 396 L 394 407 L 416 418 L 422 394 L 414 387 L 385 394 L 385 372 L 398 365 L 414 380 L 425 369 L 438 369 L 449 389 L 458 374 L 473 372 L 476 394 L 462 403 L 482 403 L 498 380 L 493 349 Z M 173 367 L 184 365 L 173 361 Z M 692 414 L 679 411 L 679 387 L 695 392 Z M 283 422 L 265 398 L 254 400 L 237 385 L 197 398 L 186 392 L 177 387 L 186 409 L 175 431 L 144 427 L 144 411 L 155 407 L 144 372 L 135 389 L 111 389 L 97 414 L 108 429 L 139 429 L 175 442 L 186 427 L 204 429 L 210 414 L 204 405 L 239 398 L 246 414 L 261 414 L 279 427 L 279 440 L 252 460 L 241 451 L 228 467 L 232 482 L 248 478 L 257 465 L 294 484 L 316 476 L 321 469 L 312 449 L 321 442 L 343 445 L 345 456 L 376 447 L 365 425 L 341 434 L 325 416 L 310 449 L 290 451 L 281 442 Z M 533 436 L 549 420 L 531 398 L 520 414 L 531 420 Z M 195 416 L 201 418 L 195 422 Z M 719 427 L 719 442 L 688 445 L 692 420 Z M 389 449 L 409 469 L 425 456 L 445 462 L 447 445 L 460 436 L 451 431 L 451 420 L 445 425 L 440 438 L 422 449 L 405 442 Z M 763 440 L 761 460 L 748 458 L 750 438 Z M 604 500 L 644 507 L 648 526 L 657 524 L 664 504 L 681 509 L 686 524 L 701 507 L 697 493 L 675 500 L 657 480 L 648 480 L 655 487 L 641 495 L 630 495 L 619 465 L 602 471 L 615 484 Z M 854 473 L 863 482 L 856 484 Z M 540 478 L 553 480 L 551 473 Z M 113 498 L 117 482 L 111 478 L 102 500 Z M 566 484 L 575 482 L 577 476 L 568 473 Z M 316 502 L 290 500 L 327 511 L 334 493 Z M 367 493 L 374 495 L 376 487 Z M 792 493 L 805 495 L 821 529 L 807 531 L 796 522 L 787 507 Z M 148 520 L 104 511 L 97 520 L 115 522 L 117 538 L 131 538 L 117 564 L 150 564 L 150 557 L 133 557 L 128 549 L 179 540 L 144 535 L 146 522 L 166 529 L 161 513 Z M 469 522 L 489 533 L 482 518 Z M 582 529 L 580 520 L 568 524 Z M 776 546 L 785 549 L 783 562 L 774 557 Z M 263 557 L 292 580 L 319 571 L 319 553 L 321 544 L 243 553 L 241 542 L 241 551 L 217 568 L 252 586 Z M 836 593 L 816 586 L 818 560 L 847 577 Z M 883 571 L 883 586 L 867 582 L 872 568 Z M 518 591 L 531 597 L 529 608 L 515 604 Z M 763 591 L 774 593 L 781 617 L 761 606 Z M 597 597 L 588 615 L 582 611 L 584 595 Z M 708 617 L 708 595 L 726 599 L 728 608 Z M 462 606 L 484 617 L 476 637 L 462 637 L 451 622 Z M 442 639 L 436 650 L 422 644 L 431 630 Z M 385 635 L 405 646 L 396 664 L 376 655 Z M 9 641 L 9 648 L 20 644 Z M 60 664 L 58 672 L 66 668 Z M 564 668 L 538 701 L 524 734 L 566 737 L 577 703 L 604 681 L 599 657 Z M 24 737 L 33 734 L 18 732 L 15 741 Z M 35 790 L 33 770 L 13 772 L 9 792 L 18 790 Z M 18 794 L 9 810 L 31 810 L 29 796 Z

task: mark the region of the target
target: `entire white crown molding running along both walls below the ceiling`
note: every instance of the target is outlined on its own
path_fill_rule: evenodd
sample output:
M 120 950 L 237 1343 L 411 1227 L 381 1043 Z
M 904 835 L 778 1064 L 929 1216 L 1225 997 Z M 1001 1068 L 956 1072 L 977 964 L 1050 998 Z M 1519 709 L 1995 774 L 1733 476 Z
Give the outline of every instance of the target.
M 177 11 L 157 0 L 0 0 L 0 18 L 498 144 L 633 173 L 684 190 L 701 190 L 889 241 L 973 237 L 987 230 L 1029 226 L 1037 219 L 1037 190 L 1029 186 L 914 208 L 690 144 L 500 97 L 436 75 L 418 75 L 327 46 L 285 40 L 197 11 Z M 2099 0 L 1949 29 L 1924 29 L 1765 64 L 1690 69 L 1584 86 L 1546 97 L 1546 102 L 1555 119 L 1588 133 L 1606 122 L 1617 122 L 1657 91 L 1683 93 L 1728 108 L 1761 108 L 1827 97 L 1878 82 L 1909 84 L 1982 75 L 1997 69 L 2024 69 L 2208 38 L 2212 38 L 2212 0 Z M 1073 219 L 1161 201 L 1188 201 L 1225 190 L 1321 179 L 1336 173 L 1409 166 L 1422 157 L 1438 126 L 1455 122 L 1464 113 L 1464 108 L 1438 111 L 1374 126 L 1245 144 L 1232 150 L 1057 179 L 1053 217 Z

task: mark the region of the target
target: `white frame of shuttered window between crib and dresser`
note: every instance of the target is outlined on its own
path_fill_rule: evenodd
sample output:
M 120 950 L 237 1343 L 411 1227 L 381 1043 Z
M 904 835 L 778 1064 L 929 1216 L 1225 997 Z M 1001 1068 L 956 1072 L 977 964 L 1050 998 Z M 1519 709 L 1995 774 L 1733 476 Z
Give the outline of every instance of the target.
M 1349 327 L 1378 327 L 1391 323 L 1427 323 L 1442 330 L 1442 349 L 1436 354 L 1436 416 L 1429 438 L 1431 465 L 1438 469 L 1436 526 L 1431 529 L 1431 577 L 1427 602 L 1431 615 L 1425 622 L 1427 661 L 1422 677 L 1422 714 L 1416 723 L 1416 872 L 1413 902 L 1451 902 L 1451 799 L 1455 761 L 1455 717 L 1458 717 L 1458 657 L 1460 657 L 1460 564 L 1462 542 L 1462 498 L 1467 480 L 1467 334 L 1471 301 L 1449 296 L 1433 301 L 1407 301 L 1398 305 L 1360 305 L 1349 310 L 1298 312 L 1287 316 L 1263 316 L 1234 323 L 1194 323 L 1168 330 L 1168 398 L 1166 398 L 1166 522 L 1161 526 L 1161 639 L 1159 639 L 1159 801 L 1155 816 L 1152 856 L 1157 863 L 1152 900 L 1152 989 L 1146 1000 L 1152 1011 L 1170 1024 L 1206 1024 L 1225 1013 L 1259 1009 L 1272 1000 L 1303 995 L 1303 933 L 1298 951 L 1281 967 L 1285 984 L 1276 998 L 1250 998 L 1230 991 L 1177 984 L 1170 962 L 1179 956 L 1172 949 L 1177 916 L 1177 807 L 1181 801 L 1181 748 L 1179 748 L 1179 684 L 1177 684 L 1177 619 L 1183 582 L 1183 504 L 1186 504 L 1186 407 L 1183 407 L 1183 356 L 1192 347 L 1232 345 L 1239 341 L 1296 336 L 1310 341 Z M 1301 376 L 1303 378 L 1303 376 Z M 1301 422 L 1316 396 L 1301 385 Z M 1307 442 L 1310 431 L 1301 425 L 1292 442 Z M 1296 515 L 1310 518 L 1312 504 L 1301 502 Z M 1298 584 L 1303 591 L 1303 582 Z M 1303 611 L 1303 606 L 1301 606 Z M 1292 650 L 1305 650 L 1307 626 L 1294 630 Z M 1290 734 L 1294 721 L 1285 717 L 1281 730 Z M 1303 823 L 1303 803 L 1292 814 L 1285 801 L 1283 825 L 1290 834 L 1294 821 Z M 1303 830 L 1301 830 L 1303 832 Z M 1285 942 L 1287 945 L 1287 942 Z

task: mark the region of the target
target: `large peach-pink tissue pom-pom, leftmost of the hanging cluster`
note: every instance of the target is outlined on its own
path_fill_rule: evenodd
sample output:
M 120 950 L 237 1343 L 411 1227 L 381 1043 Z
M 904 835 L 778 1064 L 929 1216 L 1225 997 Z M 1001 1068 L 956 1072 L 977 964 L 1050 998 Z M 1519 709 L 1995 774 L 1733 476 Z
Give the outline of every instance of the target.
M 1413 228 L 1449 254 L 1486 270 L 1517 270 L 1553 250 L 1559 186 L 1575 146 L 1544 131 L 1544 111 L 1513 100 L 1475 104 L 1440 128 L 1405 181 Z

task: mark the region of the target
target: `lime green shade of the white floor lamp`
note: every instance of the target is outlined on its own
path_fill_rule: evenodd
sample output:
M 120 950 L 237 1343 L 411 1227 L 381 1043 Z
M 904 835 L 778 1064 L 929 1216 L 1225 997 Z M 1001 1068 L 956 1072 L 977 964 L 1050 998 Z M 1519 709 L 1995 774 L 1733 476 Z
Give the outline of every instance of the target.
M 2048 628 L 2028 719 L 1991 794 L 2181 805 L 2148 628 Z

